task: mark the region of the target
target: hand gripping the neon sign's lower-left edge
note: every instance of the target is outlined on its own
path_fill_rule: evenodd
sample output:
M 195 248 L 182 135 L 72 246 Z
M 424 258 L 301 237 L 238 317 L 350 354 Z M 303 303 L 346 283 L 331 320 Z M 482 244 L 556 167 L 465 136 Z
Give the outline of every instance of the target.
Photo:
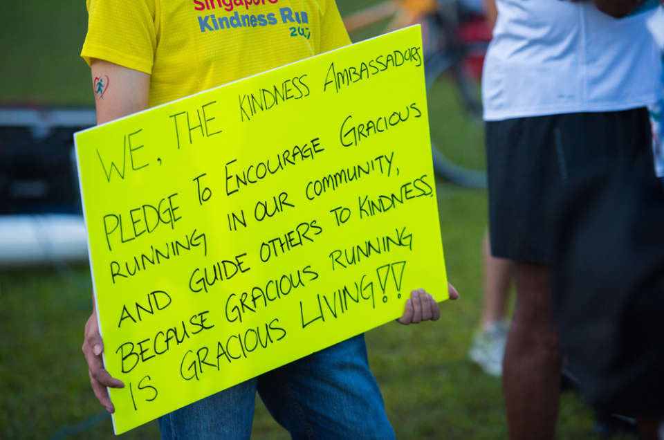
M 111 402 L 111 398 L 109 398 L 107 387 L 122 388 L 124 387 L 124 383 L 111 377 L 106 369 L 104 369 L 104 363 L 102 361 L 104 344 L 102 342 L 102 336 L 99 334 L 97 311 L 94 308 L 90 318 L 88 318 L 88 322 L 85 324 L 85 334 L 81 349 L 85 356 L 85 360 L 88 363 L 90 385 L 92 386 L 95 396 L 97 396 L 98 401 L 100 401 L 108 412 L 114 412 L 115 407 Z

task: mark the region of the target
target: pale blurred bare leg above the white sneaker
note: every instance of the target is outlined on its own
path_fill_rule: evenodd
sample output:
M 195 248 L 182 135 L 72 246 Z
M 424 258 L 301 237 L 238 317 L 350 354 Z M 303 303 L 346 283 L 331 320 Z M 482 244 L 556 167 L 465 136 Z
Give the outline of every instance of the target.
M 507 295 L 514 274 L 514 262 L 491 255 L 488 232 L 484 234 L 482 240 L 482 256 L 484 260 L 484 304 L 481 326 L 483 330 L 487 330 L 492 324 L 505 319 Z

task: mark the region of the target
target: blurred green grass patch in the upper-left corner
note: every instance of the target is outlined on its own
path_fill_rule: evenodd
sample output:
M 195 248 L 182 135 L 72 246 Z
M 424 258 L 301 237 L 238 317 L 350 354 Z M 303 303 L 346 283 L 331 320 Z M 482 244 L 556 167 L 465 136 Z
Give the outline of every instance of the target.
M 0 105 L 94 105 L 85 1 L 0 1 Z

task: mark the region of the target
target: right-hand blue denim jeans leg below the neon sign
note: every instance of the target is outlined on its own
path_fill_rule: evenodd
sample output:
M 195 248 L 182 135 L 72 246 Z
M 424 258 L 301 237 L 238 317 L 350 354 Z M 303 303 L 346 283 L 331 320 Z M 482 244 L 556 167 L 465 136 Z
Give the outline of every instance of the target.
M 258 392 L 293 439 L 394 439 L 364 335 L 260 376 Z

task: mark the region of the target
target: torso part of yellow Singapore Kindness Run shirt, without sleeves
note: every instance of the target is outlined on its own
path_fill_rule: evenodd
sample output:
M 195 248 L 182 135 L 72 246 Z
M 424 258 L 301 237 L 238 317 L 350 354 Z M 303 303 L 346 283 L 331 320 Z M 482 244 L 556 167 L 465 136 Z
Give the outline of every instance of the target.
M 150 106 L 320 53 L 320 3 L 157 0 Z

